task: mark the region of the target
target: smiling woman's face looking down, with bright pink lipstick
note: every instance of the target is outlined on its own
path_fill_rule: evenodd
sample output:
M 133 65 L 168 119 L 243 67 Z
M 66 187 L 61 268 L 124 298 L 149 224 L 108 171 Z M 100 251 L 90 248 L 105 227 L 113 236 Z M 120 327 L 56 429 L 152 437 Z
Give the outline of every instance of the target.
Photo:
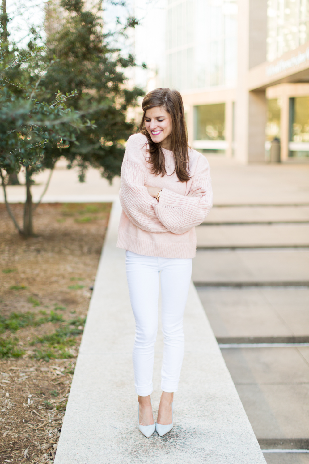
M 170 113 L 160 106 L 155 106 L 145 113 L 145 128 L 152 142 L 161 143 L 161 147 L 170 150 L 172 118 Z

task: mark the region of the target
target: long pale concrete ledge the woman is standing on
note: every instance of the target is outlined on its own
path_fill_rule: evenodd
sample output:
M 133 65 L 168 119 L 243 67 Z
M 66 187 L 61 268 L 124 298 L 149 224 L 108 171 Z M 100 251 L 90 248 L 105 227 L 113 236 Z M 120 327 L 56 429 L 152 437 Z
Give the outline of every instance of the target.
M 125 251 L 116 248 L 121 206 L 115 201 L 91 298 L 55 464 L 265 464 L 252 427 L 191 284 L 185 311 L 185 357 L 174 400 L 174 428 L 145 438 L 133 387 L 134 318 Z M 158 333 L 154 412 L 163 340 Z

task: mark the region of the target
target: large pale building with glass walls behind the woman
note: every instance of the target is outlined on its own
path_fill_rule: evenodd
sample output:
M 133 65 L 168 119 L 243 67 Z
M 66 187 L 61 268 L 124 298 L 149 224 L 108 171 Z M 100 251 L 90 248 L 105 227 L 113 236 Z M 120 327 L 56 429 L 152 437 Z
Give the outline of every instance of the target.
M 260 162 L 279 141 L 281 161 L 308 157 L 309 0 L 161 1 L 157 82 L 181 91 L 191 146 Z

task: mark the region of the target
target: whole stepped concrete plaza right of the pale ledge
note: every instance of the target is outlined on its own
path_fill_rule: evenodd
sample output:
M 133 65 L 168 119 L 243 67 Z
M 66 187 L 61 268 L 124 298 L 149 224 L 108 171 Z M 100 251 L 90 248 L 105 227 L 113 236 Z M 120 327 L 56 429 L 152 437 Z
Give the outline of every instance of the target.
M 309 463 L 309 166 L 210 165 L 193 280 L 266 462 Z

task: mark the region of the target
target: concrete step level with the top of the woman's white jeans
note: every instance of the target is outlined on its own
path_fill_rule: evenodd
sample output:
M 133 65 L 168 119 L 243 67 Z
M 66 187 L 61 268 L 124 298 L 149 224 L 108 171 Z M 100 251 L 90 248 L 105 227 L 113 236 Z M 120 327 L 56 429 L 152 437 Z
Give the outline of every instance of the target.
M 192 278 L 199 285 L 308 285 L 309 250 L 197 250 Z

